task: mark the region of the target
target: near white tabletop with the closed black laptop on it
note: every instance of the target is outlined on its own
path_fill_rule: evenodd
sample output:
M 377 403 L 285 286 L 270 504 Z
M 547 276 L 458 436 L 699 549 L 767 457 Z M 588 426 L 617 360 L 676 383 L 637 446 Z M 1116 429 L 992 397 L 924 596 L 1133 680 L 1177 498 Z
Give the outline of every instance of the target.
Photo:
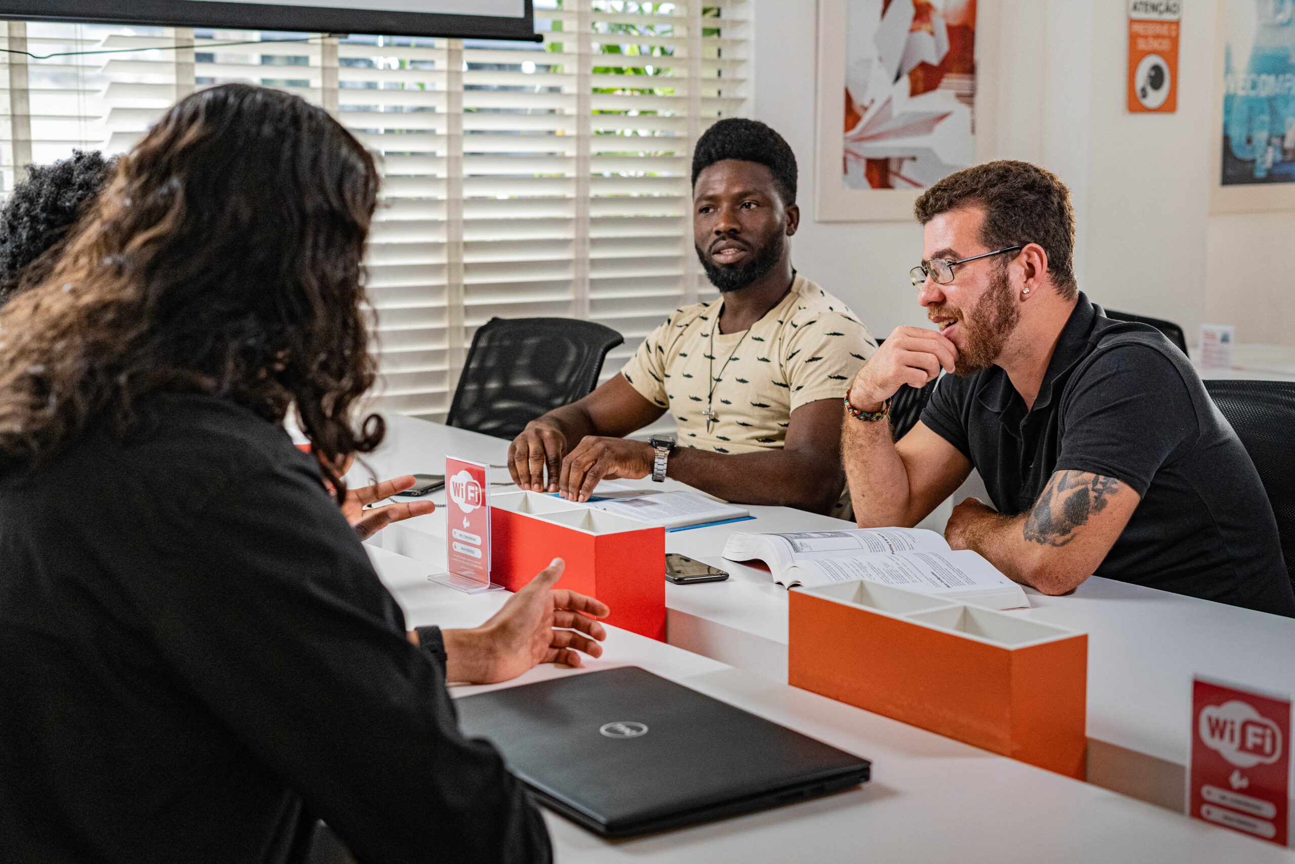
M 381 548 L 370 557 L 409 626 L 474 627 L 506 598 L 429 582 L 426 563 Z M 640 666 L 870 759 L 873 780 L 816 801 L 616 842 L 545 811 L 561 864 L 1295 860 L 1289 850 L 611 627 L 603 657 L 587 668 L 615 666 Z M 578 674 L 546 665 L 496 687 Z

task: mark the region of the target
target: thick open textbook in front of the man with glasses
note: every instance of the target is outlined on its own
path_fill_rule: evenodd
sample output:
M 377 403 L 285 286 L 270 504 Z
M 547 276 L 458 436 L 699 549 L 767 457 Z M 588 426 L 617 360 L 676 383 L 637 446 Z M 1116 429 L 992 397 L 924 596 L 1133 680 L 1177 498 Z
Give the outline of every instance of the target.
M 925 529 L 847 529 L 729 536 L 724 557 L 764 561 L 785 587 L 868 579 L 993 609 L 1028 608 L 1020 585 L 975 552 Z

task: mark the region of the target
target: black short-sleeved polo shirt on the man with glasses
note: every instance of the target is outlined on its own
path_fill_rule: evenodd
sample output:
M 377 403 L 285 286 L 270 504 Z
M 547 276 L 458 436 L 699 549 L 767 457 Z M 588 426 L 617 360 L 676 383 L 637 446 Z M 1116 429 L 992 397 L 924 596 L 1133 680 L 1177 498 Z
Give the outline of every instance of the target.
M 922 422 L 971 460 L 1000 513 L 1031 509 L 1059 470 L 1133 487 L 1142 501 L 1097 575 L 1295 617 L 1259 474 L 1154 328 L 1101 316 L 1080 293 L 1031 411 L 991 367 L 940 378 Z

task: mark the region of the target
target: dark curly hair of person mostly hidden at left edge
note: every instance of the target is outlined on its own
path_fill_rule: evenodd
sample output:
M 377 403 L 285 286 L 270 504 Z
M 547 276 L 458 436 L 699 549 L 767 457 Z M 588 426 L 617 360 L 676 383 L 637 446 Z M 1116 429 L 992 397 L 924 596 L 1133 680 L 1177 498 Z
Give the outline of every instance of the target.
M 0 210 L 0 304 L 23 285 L 35 285 L 51 269 L 47 251 L 97 198 L 117 171 L 117 157 L 98 150 L 73 150 L 53 165 L 28 166 L 27 179 L 13 188 Z M 40 259 L 40 264 L 28 266 Z

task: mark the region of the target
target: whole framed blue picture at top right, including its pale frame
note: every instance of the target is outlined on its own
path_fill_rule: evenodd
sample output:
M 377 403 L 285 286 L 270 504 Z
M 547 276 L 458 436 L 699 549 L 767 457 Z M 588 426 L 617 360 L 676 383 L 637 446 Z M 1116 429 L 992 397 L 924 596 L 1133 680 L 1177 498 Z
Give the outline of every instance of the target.
M 1295 210 L 1295 0 L 1217 0 L 1213 214 Z

